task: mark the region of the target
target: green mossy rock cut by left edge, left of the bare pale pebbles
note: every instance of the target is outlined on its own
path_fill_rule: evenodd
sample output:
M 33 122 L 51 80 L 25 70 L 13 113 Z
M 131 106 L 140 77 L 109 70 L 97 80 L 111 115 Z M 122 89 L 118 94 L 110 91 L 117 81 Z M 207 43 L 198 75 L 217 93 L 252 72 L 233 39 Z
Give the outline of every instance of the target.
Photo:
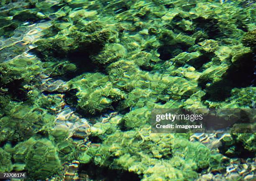
M 0 141 L 22 141 L 37 132 L 48 131 L 54 117 L 46 109 L 30 107 L 24 103 L 10 102 L 0 117 Z

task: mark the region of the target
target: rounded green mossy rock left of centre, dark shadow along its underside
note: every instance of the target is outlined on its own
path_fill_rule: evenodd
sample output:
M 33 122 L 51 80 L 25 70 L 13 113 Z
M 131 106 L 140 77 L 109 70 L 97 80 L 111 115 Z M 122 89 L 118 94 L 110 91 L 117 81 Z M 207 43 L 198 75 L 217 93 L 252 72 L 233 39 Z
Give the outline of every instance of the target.
M 110 109 L 114 102 L 123 99 L 124 93 L 113 87 L 110 77 L 100 73 L 87 73 L 69 81 L 77 89 L 78 106 L 92 114 Z

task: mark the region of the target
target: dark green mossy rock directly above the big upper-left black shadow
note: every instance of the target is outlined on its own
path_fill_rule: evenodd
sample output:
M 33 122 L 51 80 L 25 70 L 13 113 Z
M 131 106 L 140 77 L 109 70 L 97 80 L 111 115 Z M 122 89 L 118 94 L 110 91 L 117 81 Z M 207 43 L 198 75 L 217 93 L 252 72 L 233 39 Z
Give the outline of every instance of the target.
M 35 44 L 38 45 L 36 49 L 42 52 L 45 56 L 44 58 L 48 60 L 51 60 L 53 55 L 58 55 L 59 57 L 79 53 L 97 55 L 108 42 L 115 41 L 116 34 L 115 30 L 106 27 L 105 23 L 101 21 L 82 21 L 74 25 L 71 21 L 68 29 L 60 30 L 57 35 L 38 40 Z M 118 48 L 118 45 L 114 47 L 116 47 L 117 51 L 123 51 L 121 47 Z M 118 54 L 118 52 L 116 53 Z M 104 55 L 102 56 L 104 57 Z

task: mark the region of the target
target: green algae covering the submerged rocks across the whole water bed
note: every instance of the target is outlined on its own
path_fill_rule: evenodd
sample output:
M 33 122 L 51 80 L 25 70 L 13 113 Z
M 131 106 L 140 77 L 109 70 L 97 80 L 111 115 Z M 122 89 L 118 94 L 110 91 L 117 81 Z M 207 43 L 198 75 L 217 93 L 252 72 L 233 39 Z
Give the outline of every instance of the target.
M 148 125 L 153 108 L 255 107 L 255 10 L 240 1 L 59 3 L 1 2 L 0 171 L 45 179 L 77 159 L 143 180 L 195 180 L 200 170 L 221 172 L 222 154 L 255 152 L 254 134 L 223 139 L 219 154 L 189 134 L 150 134 Z M 39 39 L 8 42 L 27 20 L 51 25 Z M 18 56 L 30 43 L 38 57 Z M 66 89 L 49 88 L 55 77 L 67 81 Z M 65 102 L 88 117 L 113 110 L 122 118 L 92 121 L 100 146 L 84 148 L 56 126 Z

